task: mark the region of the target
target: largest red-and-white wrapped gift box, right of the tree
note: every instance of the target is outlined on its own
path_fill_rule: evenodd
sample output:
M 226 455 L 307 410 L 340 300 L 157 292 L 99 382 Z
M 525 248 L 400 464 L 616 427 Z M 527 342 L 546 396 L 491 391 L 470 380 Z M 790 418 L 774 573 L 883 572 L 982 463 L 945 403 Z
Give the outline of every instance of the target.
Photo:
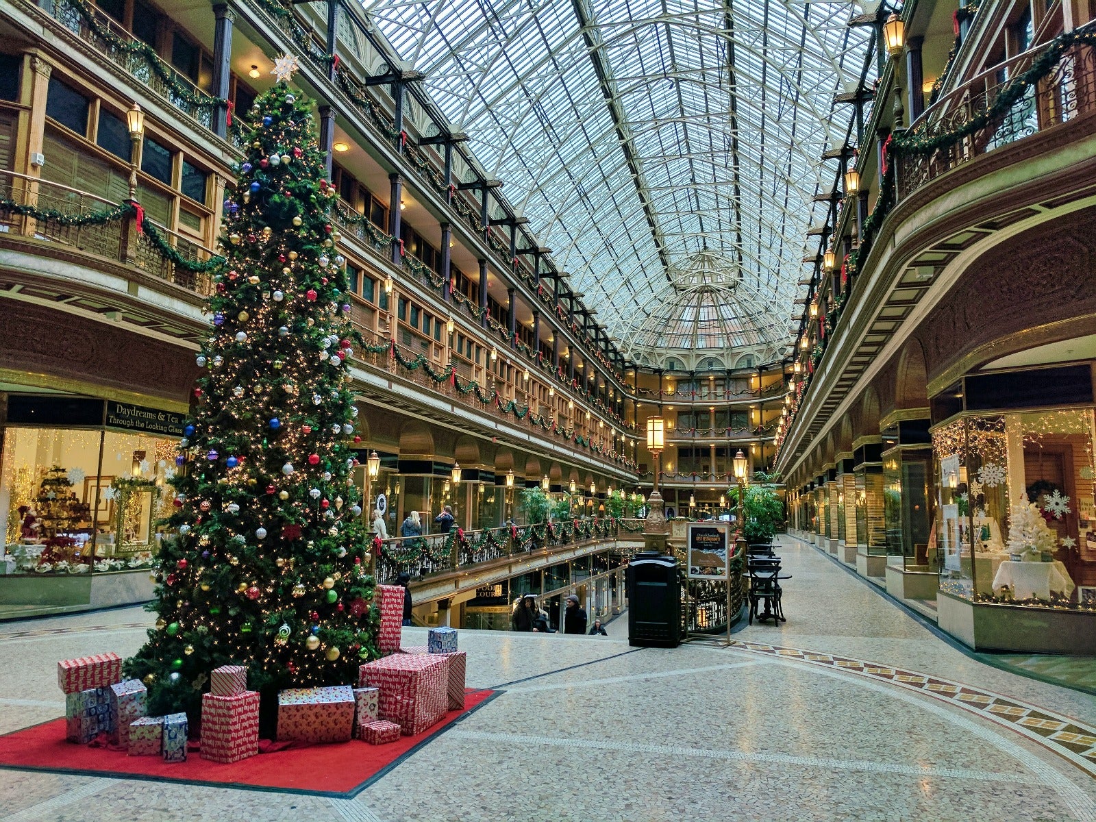
M 398 722 L 404 737 L 422 733 L 448 708 L 449 658 L 397 653 L 358 669 L 358 685 L 380 688 L 380 718 Z

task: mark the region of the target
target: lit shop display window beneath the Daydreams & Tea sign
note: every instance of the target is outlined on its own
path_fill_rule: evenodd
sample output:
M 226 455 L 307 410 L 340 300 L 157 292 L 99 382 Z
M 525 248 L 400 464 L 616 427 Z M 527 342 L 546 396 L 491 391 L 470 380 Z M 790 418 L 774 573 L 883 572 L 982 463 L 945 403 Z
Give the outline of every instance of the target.
M 178 439 L 103 430 L 16 427 L 4 435 L 0 511 L 16 574 L 148 567 L 170 514 Z

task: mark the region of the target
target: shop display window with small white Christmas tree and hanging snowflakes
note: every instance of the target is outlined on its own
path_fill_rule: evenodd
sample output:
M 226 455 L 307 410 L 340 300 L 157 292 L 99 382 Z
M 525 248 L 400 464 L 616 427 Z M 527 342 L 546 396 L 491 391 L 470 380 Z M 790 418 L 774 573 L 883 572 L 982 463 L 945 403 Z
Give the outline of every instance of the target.
M 968 415 L 933 431 L 940 589 L 1096 608 L 1093 409 Z M 1039 563 L 1039 564 L 1032 564 Z

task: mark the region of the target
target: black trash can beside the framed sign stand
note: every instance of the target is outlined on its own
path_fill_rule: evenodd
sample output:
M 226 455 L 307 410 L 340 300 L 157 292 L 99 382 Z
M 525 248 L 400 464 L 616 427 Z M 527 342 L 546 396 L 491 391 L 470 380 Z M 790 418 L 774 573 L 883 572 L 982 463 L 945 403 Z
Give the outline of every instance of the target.
M 682 642 L 681 568 L 676 557 L 640 551 L 628 563 L 628 644 Z

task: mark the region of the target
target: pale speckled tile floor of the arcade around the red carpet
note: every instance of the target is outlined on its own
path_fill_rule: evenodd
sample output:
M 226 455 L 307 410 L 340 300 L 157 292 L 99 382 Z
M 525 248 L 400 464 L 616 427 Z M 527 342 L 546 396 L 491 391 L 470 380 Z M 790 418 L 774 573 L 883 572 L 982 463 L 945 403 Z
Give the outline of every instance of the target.
M 0 772 L 0 821 L 1085 820 L 1096 699 L 941 642 L 798 543 L 788 621 L 731 647 L 461 631 L 505 694 L 354 799 Z M 132 653 L 139 609 L 0 625 L 0 732 L 64 710 L 57 659 Z M 404 629 L 406 644 L 424 642 Z

